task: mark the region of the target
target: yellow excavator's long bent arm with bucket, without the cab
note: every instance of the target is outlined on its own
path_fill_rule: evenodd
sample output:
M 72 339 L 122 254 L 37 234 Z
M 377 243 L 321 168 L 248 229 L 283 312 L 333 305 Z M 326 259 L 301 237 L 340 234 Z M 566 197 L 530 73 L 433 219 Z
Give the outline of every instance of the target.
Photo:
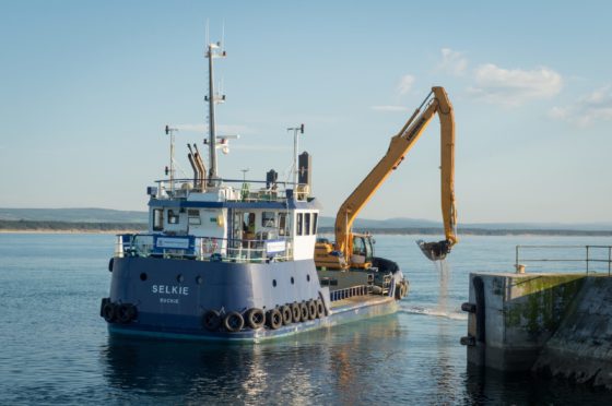
M 433 97 L 432 97 L 433 96 Z M 336 249 L 350 258 L 352 252 L 352 225 L 361 210 L 396 169 L 416 140 L 421 136 L 435 115 L 440 121 L 440 159 L 442 159 L 442 214 L 446 240 L 422 242 L 420 247 L 431 260 L 446 256 L 457 242 L 455 210 L 455 118 L 452 105 L 444 87 L 433 87 L 423 104 L 414 111 L 400 132 L 391 138 L 385 156 L 342 203 L 336 217 Z

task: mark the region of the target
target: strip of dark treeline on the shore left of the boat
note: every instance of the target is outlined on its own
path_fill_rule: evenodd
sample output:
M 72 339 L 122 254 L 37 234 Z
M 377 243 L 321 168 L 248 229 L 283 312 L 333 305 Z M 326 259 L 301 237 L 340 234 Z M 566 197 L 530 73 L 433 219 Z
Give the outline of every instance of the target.
M 0 230 L 10 231 L 142 231 L 146 224 L 142 223 L 75 223 L 50 220 L 3 220 L 0 219 Z

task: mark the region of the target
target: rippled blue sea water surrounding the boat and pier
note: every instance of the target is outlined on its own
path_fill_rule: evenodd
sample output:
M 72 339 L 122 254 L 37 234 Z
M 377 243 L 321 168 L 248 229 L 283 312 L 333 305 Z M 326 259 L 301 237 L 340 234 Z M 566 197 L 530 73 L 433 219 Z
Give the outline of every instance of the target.
M 459 344 L 470 272 L 514 271 L 516 244 L 611 238 L 467 236 L 437 264 L 420 238 L 377 238 L 410 279 L 397 314 L 226 346 L 110 337 L 99 301 L 114 236 L 0 235 L 0 404 L 612 404 L 563 380 L 474 370 Z

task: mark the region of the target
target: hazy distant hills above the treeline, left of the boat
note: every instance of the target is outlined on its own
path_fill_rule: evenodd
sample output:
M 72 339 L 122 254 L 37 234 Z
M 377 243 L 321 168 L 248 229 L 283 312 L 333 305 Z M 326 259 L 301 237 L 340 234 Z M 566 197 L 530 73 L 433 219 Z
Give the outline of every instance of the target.
M 2 220 L 68 223 L 148 223 L 146 212 L 109 208 L 0 208 Z

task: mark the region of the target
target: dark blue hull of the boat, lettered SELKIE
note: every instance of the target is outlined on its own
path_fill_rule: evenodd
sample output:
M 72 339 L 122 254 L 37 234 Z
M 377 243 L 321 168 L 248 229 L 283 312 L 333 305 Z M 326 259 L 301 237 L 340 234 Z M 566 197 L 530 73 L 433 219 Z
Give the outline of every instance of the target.
M 110 333 L 122 335 L 261 342 L 390 314 L 397 311 L 399 299 L 391 288 L 385 295 L 334 295 L 332 302 L 311 260 L 233 263 L 126 256 L 115 258 L 110 271 L 110 296 L 103 300 L 101 315 L 109 322 Z M 399 270 L 393 279 L 403 279 Z M 270 324 L 273 311 L 315 301 L 320 301 L 320 311 L 311 313 L 316 315 L 308 317 L 306 310 L 306 317 L 298 318 L 303 321 Z M 105 307 L 109 303 L 121 308 L 121 313 L 108 318 Z M 254 309 L 261 311 L 266 325 L 263 321 L 249 323 Z M 211 312 L 222 320 L 212 327 L 207 322 Z M 231 313 L 244 322 L 234 331 L 227 324 Z

